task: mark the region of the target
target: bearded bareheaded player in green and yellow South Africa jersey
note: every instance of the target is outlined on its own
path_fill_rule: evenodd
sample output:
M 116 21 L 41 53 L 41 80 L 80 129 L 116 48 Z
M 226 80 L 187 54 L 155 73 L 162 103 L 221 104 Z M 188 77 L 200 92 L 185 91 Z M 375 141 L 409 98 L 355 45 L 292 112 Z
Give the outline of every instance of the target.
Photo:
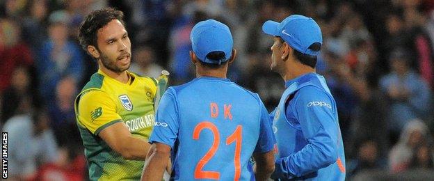
M 119 10 L 95 10 L 79 31 L 99 65 L 75 101 L 90 180 L 140 180 L 150 148 L 157 82 L 128 71 L 131 41 L 122 18 Z

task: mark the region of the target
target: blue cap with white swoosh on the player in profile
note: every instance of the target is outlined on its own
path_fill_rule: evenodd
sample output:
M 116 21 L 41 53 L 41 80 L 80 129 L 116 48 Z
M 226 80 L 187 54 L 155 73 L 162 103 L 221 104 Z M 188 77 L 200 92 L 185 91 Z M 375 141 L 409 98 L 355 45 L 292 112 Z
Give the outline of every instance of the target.
M 285 42 L 298 52 L 316 56 L 319 51 L 309 49 L 315 42 L 323 44 L 323 36 L 318 24 L 312 17 L 291 15 L 282 22 L 268 20 L 262 25 L 262 31 L 272 36 L 280 36 Z

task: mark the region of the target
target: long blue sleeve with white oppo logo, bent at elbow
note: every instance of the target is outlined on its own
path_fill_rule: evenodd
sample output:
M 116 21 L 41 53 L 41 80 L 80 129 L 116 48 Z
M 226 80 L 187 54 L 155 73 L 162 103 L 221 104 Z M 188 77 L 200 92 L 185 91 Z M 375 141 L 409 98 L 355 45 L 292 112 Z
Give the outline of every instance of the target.
M 335 163 L 338 157 L 340 132 L 332 98 L 313 86 L 301 88 L 297 94 L 293 100 L 295 103 L 289 104 L 286 112 L 294 112 L 307 145 L 275 161 L 276 172 L 289 178 L 312 175 L 320 168 Z

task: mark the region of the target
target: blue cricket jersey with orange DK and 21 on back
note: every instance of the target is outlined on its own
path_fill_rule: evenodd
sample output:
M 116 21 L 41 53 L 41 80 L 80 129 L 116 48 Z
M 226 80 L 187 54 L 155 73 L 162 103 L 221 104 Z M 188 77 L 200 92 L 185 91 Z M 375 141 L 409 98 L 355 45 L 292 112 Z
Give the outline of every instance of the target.
M 229 79 L 199 77 L 161 97 L 150 143 L 172 148 L 173 180 L 255 180 L 253 152 L 273 150 L 259 96 Z

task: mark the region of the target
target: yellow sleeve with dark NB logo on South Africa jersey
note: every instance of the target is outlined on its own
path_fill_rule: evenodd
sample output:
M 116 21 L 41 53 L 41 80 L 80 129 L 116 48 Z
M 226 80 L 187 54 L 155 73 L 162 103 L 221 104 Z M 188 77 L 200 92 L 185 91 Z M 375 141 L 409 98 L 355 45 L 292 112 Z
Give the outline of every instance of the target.
M 98 135 L 102 129 L 122 121 L 116 113 L 116 104 L 102 91 L 83 93 L 78 106 L 79 124 Z

